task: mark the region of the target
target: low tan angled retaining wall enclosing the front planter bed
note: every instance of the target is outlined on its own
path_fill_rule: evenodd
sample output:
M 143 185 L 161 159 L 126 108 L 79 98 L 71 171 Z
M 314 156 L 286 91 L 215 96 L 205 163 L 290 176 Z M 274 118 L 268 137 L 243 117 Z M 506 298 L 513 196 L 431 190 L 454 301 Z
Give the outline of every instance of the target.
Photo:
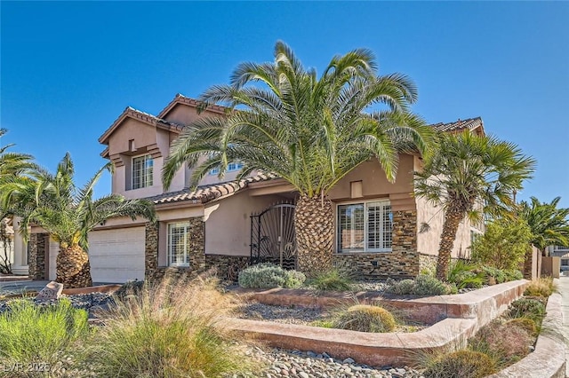
M 499 316 L 509 303 L 523 295 L 527 284 L 527 280 L 517 280 L 461 295 L 409 299 L 388 299 L 377 293 L 356 294 L 360 303 L 388 303 L 416 314 L 416 319 L 434 323 L 415 333 L 368 334 L 248 319 L 228 319 L 228 327 L 284 349 L 327 352 L 338 358 L 351 357 L 371 366 L 405 366 L 413 364 L 421 351 L 464 346 L 480 327 Z M 330 306 L 354 303 L 354 295 L 347 293 L 313 295 L 306 290 L 290 289 L 240 292 L 268 304 Z

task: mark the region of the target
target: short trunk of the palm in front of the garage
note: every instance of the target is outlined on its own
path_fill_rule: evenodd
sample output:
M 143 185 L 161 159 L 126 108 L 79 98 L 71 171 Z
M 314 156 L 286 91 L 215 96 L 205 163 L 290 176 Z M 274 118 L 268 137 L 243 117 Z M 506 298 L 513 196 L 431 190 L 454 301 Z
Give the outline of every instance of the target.
M 91 264 L 83 248 L 62 248 L 57 256 L 57 281 L 65 288 L 92 286 Z

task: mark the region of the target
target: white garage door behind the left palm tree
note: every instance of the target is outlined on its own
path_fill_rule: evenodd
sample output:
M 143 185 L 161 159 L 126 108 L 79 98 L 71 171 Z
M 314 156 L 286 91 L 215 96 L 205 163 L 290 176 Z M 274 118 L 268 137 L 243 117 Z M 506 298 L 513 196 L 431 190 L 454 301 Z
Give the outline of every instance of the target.
M 144 227 L 89 233 L 93 282 L 144 280 Z

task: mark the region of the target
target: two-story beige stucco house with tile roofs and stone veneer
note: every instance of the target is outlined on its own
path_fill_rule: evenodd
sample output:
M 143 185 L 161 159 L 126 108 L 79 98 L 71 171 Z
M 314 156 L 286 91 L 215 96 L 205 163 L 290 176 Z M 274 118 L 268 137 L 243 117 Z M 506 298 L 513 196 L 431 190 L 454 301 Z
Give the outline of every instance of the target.
M 183 125 L 201 116 L 225 114 L 221 106 L 197 113 L 196 100 L 177 95 L 160 114 L 127 107 L 99 141 L 101 156 L 113 161 L 112 192 L 127 198 L 149 198 L 159 221 L 116 218 L 89 235 L 95 282 L 122 282 L 145 277 L 203 272 L 217 268 L 235 278 L 246 264 L 272 261 L 293 267 L 295 240 L 293 204 L 297 193 L 283 179 L 253 173 L 236 181 L 239 163 L 229 164 L 226 177 L 217 172 L 188 190 L 191 171 L 181 168 L 164 193 L 161 169 L 172 141 Z M 484 133 L 480 118 L 433 125 L 441 132 Z M 389 183 L 378 161 L 365 161 L 329 193 L 334 203 L 336 264 L 360 277 L 416 276 L 437 257 L 443 213 L 413 197 L 413 170 L 421 157 L 401 154 L 397 179 Z M 429 223 L 429 232 L 419 232 Z M 57 243 L 39 229 L 30 239 L 30 276 L 55 278 Z M 453 256 L 467 256 L 472 233 L 461 223 Z

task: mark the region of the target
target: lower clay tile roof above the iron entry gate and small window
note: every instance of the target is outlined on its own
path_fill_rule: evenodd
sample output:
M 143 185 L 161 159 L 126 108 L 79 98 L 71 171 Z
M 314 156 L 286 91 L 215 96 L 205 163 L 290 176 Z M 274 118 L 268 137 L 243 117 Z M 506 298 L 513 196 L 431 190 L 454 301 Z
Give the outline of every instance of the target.
M 154 197 L 148 197 L 156 205 L 179 201 L 194 201 L 194 203 L 207 203 L 219 200 L 230 194 L 239 192 L 251 183 L 269 181 L 276 179 L 276 175 L 271 173 L 260 173 L 242 180 L 227 181 L 225 183 L 197 186 L 195 190 L 183 189 L 178 192 L 163 193 Z

